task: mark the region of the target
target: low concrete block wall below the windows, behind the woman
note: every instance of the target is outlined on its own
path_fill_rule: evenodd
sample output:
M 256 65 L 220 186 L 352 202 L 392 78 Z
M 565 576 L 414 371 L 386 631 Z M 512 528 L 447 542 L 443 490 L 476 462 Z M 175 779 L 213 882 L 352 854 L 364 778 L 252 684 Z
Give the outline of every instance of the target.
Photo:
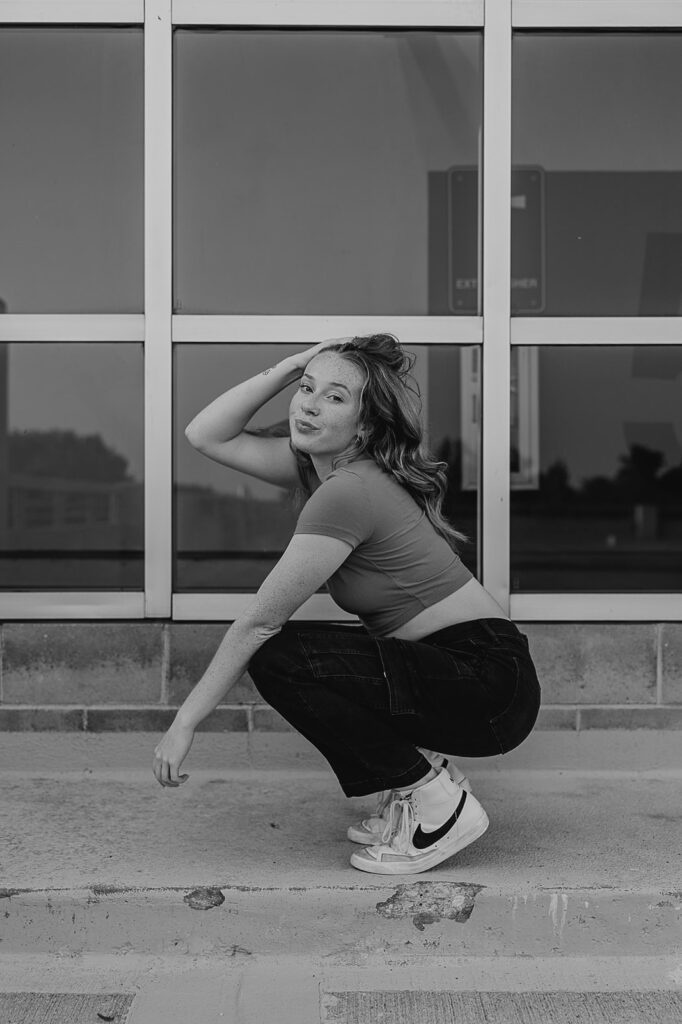
M 543 686 L 538 728 L 682 729 L 682 624 L 518 625 Z M 215 623 L 5 623 L 0 731 L 162 732 L 224 633 Z M 289 730 L 248 675 L 202 728 Z

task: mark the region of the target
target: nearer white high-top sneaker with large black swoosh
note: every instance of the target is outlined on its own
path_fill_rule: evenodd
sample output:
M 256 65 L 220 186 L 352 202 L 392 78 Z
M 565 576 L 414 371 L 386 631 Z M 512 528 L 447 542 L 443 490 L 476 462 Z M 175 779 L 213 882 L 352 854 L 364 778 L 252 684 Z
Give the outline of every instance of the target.
M 416 874 L 447 860 L 482 836 L 487 814 L 446 770 L 409 793 L 394 794 L 379 846 L 356 850 L 350 863 L 376 874 Z

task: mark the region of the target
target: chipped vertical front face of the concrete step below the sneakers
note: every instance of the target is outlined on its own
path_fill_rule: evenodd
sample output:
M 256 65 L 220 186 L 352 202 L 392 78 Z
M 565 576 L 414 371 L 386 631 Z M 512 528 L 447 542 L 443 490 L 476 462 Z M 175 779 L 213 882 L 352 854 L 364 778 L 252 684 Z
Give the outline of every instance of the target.
M 214 905 L 199 908 L 207 894 Z M 1 906 L 5 953 L 196 956 L 667 955 L 682 911 L 679 893 L 509 895 L 397 878 L 375 887 L 5 891 Z

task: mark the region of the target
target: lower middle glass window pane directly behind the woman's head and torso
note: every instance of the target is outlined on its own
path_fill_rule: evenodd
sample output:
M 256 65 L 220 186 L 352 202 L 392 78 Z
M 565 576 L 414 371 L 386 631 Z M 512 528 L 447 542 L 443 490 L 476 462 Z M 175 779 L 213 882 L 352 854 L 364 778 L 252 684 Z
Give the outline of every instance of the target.
M 257 590 L 289 543 L 297 518 L 290 494 L 201 456 L 184 428 L 222 391 L 299 348 L 175 346 L 175 590 Z M 450 467 L 443 511 L 470 539 L 461 554 L 475 571 L 479 350 L 434 345 L 413 351 L 429 445 Z M 250 427 L 279 424 L 288 432 L 293 393 L 294 385 L 276 395 Z

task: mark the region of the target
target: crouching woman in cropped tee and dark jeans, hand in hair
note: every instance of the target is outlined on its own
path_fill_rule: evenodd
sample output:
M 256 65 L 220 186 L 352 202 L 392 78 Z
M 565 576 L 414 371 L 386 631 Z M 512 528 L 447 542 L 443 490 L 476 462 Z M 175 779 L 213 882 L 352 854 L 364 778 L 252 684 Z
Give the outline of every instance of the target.
M 221 395 L 186 429 L 233 469 L 308 495 L 294 536 L 225 634 L 155 752 L 177 786 L 197 725 L 249 669 L 262 696 L 325 755 L 346 796 L 378 793 L 348 829 L 350 863 L 427 870 L 488 821 L 435 751 L 485 757 L 518 745 L 540 706 L 526 638 L 461 562 L 440 513 L 443 464 L 426 453 L 411 358 L 390 335 L 322 342 Z M 290 437 L 245 430 L 299 381 Z M 361 625 L 290 621 L 329 582 Z

